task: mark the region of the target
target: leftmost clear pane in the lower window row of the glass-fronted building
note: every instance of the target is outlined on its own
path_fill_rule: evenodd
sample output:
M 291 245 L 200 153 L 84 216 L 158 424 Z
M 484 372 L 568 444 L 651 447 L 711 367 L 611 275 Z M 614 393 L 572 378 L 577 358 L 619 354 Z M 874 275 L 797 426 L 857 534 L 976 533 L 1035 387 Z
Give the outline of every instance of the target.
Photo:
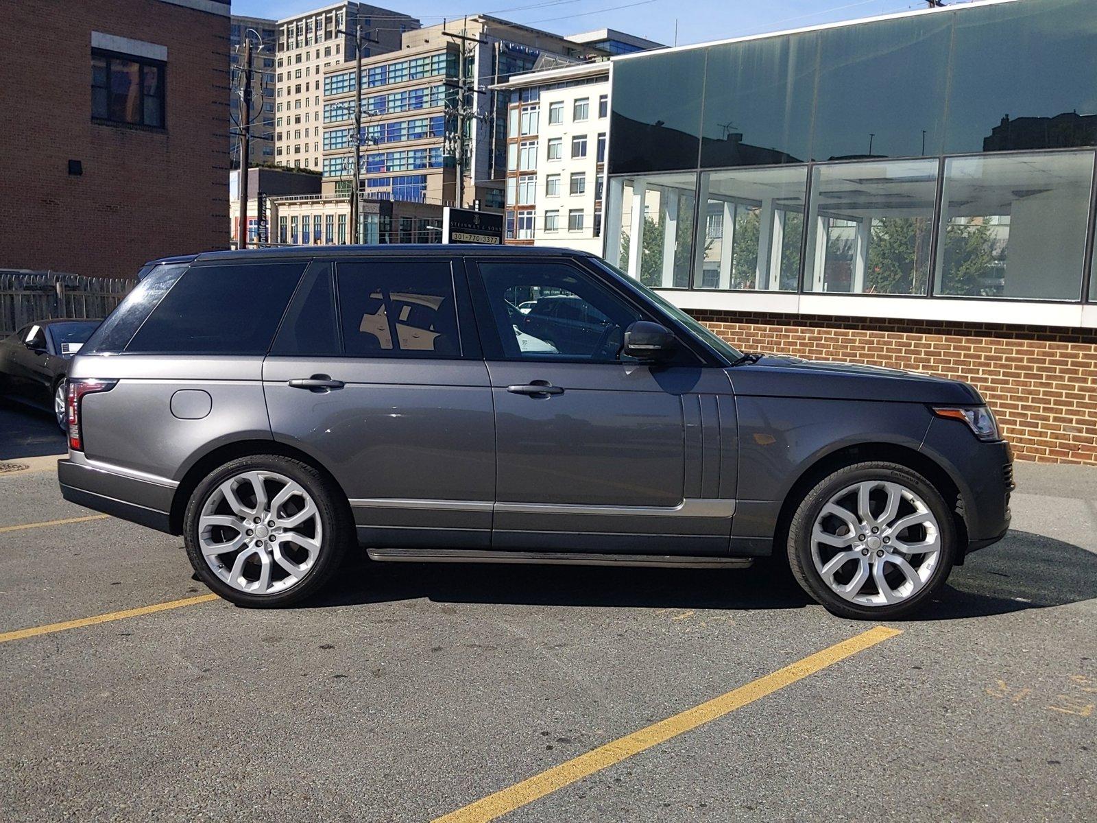
M 614 187 L 611 195 L 621 203 L 621 240 L 615 249 L 609 240 L 610 262 L 644 285 L 688 288 L 695 185 L 697 173 L 689 172 L 625 180 L 621 200 Z

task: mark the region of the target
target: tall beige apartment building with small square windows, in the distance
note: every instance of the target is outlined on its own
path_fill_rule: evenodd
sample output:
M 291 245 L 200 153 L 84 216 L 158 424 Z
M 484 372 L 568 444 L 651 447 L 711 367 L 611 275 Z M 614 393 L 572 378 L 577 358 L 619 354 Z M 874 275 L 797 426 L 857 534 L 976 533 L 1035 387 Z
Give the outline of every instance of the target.
M 407 14 L 366 3 L 341 2 L 278 21 L 274 91 L 274 162 L 321 167 L 324 70 L 354 60 L 354 27 L 369 42 L 362 57 L 395 52 L 405 32 L 419 27 Z

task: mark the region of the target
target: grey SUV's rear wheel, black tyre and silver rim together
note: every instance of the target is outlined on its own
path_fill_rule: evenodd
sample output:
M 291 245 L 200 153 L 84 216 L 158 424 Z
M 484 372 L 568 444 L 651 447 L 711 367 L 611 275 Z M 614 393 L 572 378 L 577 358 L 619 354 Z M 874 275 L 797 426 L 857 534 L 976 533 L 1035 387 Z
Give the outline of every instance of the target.
M 203 480 L 183 519 L 186 554 L 211 589 L 239 606 L 279 607 L 319 591 L 354 527 L 313 466 L 240 458 Z

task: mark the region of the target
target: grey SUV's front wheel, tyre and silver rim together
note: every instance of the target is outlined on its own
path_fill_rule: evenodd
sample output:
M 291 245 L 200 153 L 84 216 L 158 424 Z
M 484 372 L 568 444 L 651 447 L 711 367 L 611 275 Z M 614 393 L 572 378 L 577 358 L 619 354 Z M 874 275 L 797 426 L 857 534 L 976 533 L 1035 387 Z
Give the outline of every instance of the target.
M 940 493 L 897 463 L 857 463 L 804 496 L 789 527 L 789 564 L 828 611 L 861 620 L 908 615 L 952 570 L 957 533 Z

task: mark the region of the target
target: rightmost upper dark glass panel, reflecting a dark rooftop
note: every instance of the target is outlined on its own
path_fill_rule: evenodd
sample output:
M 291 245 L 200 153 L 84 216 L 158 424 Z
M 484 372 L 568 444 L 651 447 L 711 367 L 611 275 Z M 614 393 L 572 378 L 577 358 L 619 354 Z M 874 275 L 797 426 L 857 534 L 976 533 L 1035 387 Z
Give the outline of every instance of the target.
M 947 154 L 1097 144 L 1097 3 L 953 12 Z

